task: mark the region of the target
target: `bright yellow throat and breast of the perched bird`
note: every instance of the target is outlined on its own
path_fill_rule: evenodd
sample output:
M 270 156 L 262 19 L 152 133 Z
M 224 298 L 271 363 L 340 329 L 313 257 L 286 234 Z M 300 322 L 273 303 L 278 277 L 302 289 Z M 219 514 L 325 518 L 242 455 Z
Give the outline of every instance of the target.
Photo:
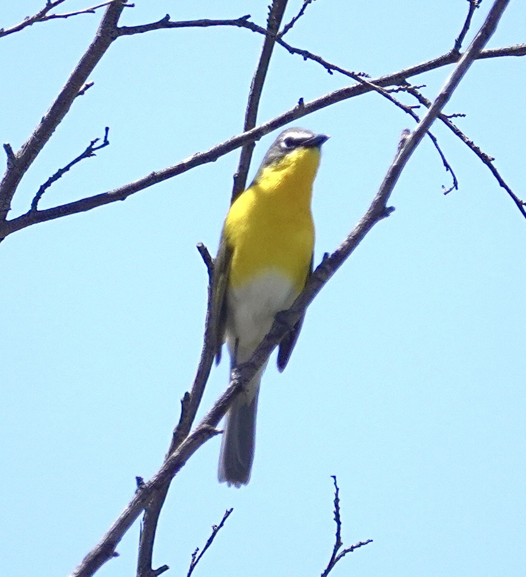
M 299 148 L 264 167 L 232 204 L 224 238 L 232 249 L 229 285 L 238 288 L 265 271 L 279 271 L 299 293 L 314 249 L 310 210 L 320 162 L 315 148 Z

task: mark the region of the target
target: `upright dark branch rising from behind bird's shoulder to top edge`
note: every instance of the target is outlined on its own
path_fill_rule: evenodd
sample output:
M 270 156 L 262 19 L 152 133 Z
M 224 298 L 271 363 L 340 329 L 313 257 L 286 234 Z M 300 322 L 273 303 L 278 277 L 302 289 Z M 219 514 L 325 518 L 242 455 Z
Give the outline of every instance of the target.
M 266 72 L 270 64 L 270 57 L 276 44 L 276 34 L 283 20 L 283 13 L 287 7 L 287 0 L 273 0 L 270 6 L 269 17 L 267 21 L 265 40 L 261 49 L 260 61 L 256 67 L 256 72 L 250 84 L 249 101 L 247 103 L 245 113 L 245 126 L 243 131 L 247 132 L 256 126 L 258 107 L 260 106 L 261 91 L 265 83 Z M 243 146 L 241 155 L 239 156 L 238 168 L 234 173 L 234 187 L 232 188 L 232 196 L 230 203 L 243 192 L 246 186 L 247 175 L 249 174 L 250 160 L 256 143 L 251 141 Z

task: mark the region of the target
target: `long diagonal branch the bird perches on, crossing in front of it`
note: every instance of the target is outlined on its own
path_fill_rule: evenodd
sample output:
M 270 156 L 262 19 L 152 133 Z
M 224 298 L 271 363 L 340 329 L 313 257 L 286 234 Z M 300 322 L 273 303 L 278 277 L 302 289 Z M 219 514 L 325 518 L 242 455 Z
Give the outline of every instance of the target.
M 224 416 L 236 396 L 242 392 L 245 384 L 264 364 L 269 354 L 283 338 L 285 332 L 287 332 L 288 327 L 295 324 L 301 314 L 305 312 L 307 306 L 310 305 L 315 296 L 320 292 L 321 288 L 325 286 L 337 269 L 339 269 L 350 254 L 354 252 L 371 228 L 393 211 L 393 208 L 387 207 L 386 203 L 401 172 L 431 124 L 441 112 L 442 107 L 444 107 L 450 99 L 454 89 L 460 83 L 461 78 L 475 60 L 476 55 L 493 34 L 497 27 L 498 20 L 508 3 L 509 0 L 495 1 L 479 33 L 454 68 L 451 76 L 446 81 L 431 107 L 420 120 L 418 126 L 400 141 L 393 163 L 389 167 L 380 189 L 362 219 L 360 219 L 358 224 L 356 224 L 335 252 L 324 258 L 322 263 L 318 265 L 305 289 L 299 297 L 296 298 L 291 308 L 285 314 L 280 315 L 280 319 L 273 323 L 269 334 L 265 336 L 260 346 L 254 351 L 250 361 L 236 367 L 232 371 L 231 381 L 227 390 L 216 401 L 197 428 L 182 441 L 175 451 L 167 456 L 159 471 L 157 471 L 150 481 L 140 484 L 130 503 L 122 511 L 121 515 L 119 515 L 119 518 L 112 524 L 99 544 L 97 544 L 95 548 L 87 554 L 84 560 L 82 560 L 81 564 L 78 565 L 72 577 L 89 577 L 93 575 L 103 563 L 114 556 L 115 548 L 121 541 L 123 535 L 141 514 L 141 511 L 146 507 L 146 504 L 148 504 L 153 494 L 166 486 L 167 482 L 182 469 L 190 456 L 193 455 L 202 444 L 218 433 L 216 427 L 220 419 Z M 187 399 L 186 395 L 185 399 Z

